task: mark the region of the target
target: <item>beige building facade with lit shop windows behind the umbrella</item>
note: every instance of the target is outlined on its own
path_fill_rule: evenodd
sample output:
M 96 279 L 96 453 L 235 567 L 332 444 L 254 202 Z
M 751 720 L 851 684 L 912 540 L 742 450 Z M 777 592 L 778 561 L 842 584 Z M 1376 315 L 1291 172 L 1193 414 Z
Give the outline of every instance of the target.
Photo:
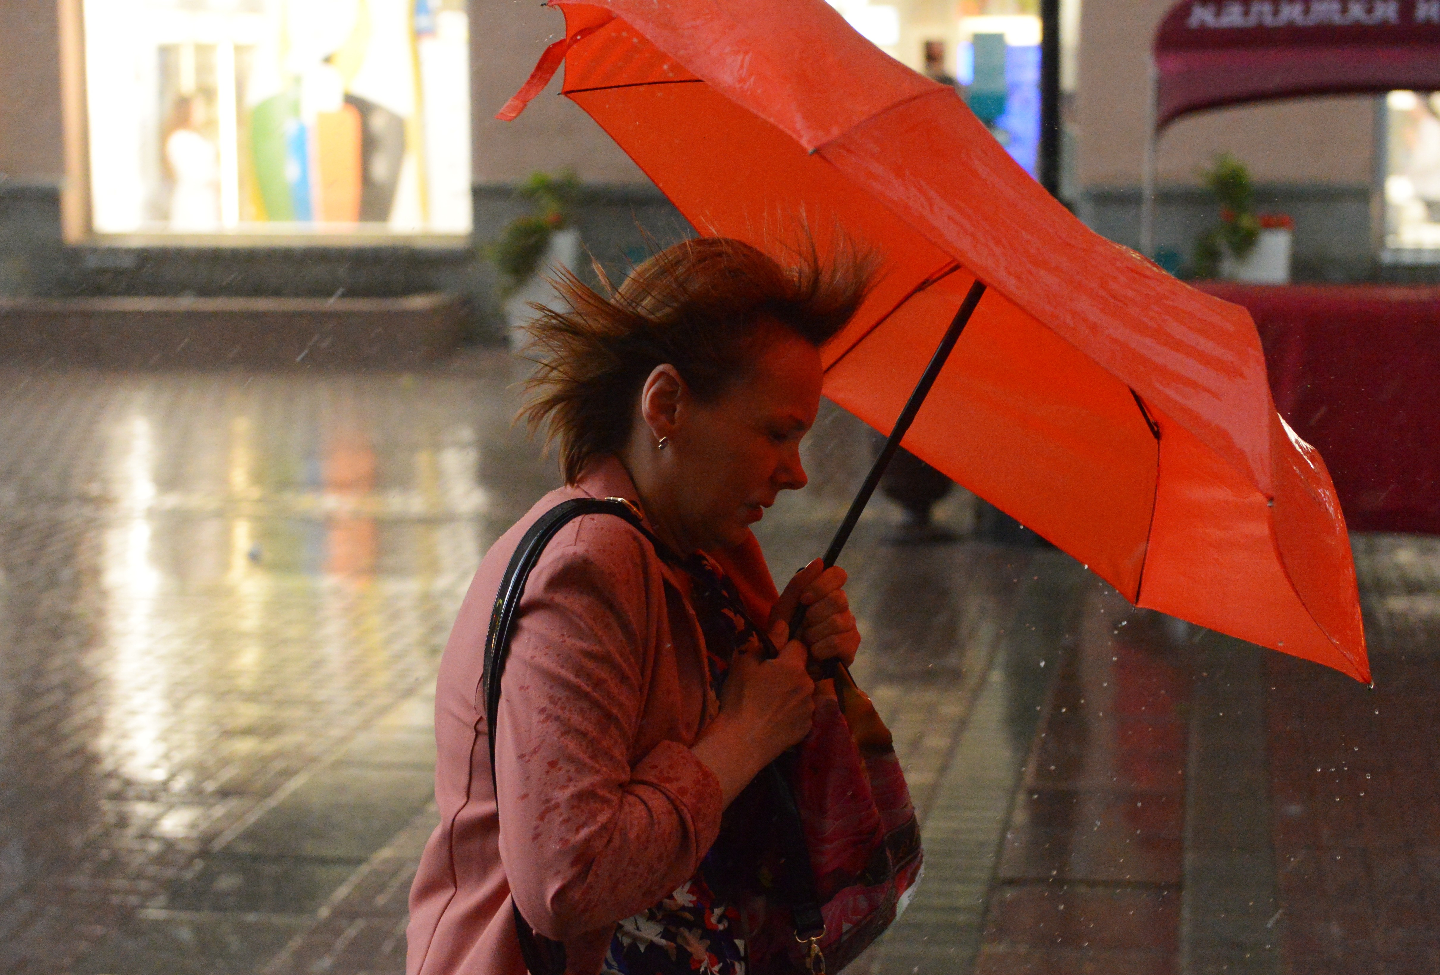
M 955 84 L 1037 173 L 1040 0 L 832 0 L 876 45 Z M 1169 0 L 1058 0 L 1060 196 L 1139 243 L 1148 58 Z M 560 98 L 494 111 L 560 29 L 530 3 L 7 0 L 0 4 L 0 295 L 393 298 L 449 292 L 497 334 L 484 245 L 536 171 L 573 171 L 573 223 L 619 268 L 684 222 Z M 467 84 L 465 79 L 469 79 Z M 1295 99 L 1185 118 L 1159 145 L 1156 251 L 1188 269 L 1244 161 L 1295 220 L 1300 281 L 1440 266 L 1434 96 Z M 302 259 L 297 259 L 301 258 Z

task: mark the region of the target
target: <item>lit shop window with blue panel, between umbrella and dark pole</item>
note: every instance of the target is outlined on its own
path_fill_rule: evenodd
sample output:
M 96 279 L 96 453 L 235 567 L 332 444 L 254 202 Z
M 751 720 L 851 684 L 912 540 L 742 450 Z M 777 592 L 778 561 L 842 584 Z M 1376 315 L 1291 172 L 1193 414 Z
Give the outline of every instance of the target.
M 1040 0 L 829 0 L 891 58 L 953 84 L 1031 176 L 1040 151 Z

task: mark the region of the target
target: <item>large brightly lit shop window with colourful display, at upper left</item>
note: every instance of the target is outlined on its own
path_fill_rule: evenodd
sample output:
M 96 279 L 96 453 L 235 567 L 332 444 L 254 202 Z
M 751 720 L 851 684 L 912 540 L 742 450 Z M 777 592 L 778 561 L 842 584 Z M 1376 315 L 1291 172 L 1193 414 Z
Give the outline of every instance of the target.
M 85 0 L 102 235 L 468 233 L 465 0 Z

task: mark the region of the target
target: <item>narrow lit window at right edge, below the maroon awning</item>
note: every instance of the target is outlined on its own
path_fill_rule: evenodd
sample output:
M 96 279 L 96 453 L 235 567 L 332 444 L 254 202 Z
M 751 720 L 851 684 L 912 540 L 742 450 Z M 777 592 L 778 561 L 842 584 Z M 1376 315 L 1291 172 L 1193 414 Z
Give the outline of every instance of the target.
M 1385 98 L 1385 246 L 1440 261 L 1440 95 Z

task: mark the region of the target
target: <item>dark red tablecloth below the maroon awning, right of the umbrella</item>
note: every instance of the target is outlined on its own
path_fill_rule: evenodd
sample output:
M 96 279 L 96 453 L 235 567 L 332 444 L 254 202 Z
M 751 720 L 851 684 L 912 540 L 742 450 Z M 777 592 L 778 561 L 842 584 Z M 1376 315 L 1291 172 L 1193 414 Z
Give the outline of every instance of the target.
M 1440 288 L 1200 287 L 1250 310 L 1276 408 L 1349 527 L 1440 534 Z

